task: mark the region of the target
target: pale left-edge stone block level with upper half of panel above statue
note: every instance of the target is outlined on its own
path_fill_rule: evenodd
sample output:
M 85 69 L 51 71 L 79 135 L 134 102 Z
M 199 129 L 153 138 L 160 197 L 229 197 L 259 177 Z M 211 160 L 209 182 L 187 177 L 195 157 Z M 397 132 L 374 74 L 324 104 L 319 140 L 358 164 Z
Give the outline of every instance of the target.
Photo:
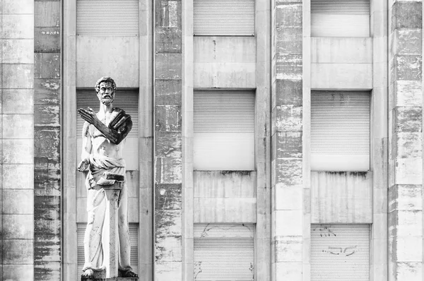
M 4 39 L 1 40 L 1 62 L 3 64 L 33 64 L 34 40 Z

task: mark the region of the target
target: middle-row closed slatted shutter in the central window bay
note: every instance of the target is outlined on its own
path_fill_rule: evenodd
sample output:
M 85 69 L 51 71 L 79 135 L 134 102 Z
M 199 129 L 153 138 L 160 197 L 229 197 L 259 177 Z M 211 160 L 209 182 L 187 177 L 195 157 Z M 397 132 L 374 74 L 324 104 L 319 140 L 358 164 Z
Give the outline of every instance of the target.
M 254 169 L 253 91 L 194 91 L 194 169 Z

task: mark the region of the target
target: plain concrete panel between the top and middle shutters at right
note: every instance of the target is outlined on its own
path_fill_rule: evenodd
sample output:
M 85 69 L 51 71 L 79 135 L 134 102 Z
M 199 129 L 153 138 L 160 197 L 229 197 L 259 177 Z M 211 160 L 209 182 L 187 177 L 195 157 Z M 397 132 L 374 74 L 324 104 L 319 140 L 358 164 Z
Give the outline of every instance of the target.
M 311 87 L 371 89 L 371 37 L 311 37 Z

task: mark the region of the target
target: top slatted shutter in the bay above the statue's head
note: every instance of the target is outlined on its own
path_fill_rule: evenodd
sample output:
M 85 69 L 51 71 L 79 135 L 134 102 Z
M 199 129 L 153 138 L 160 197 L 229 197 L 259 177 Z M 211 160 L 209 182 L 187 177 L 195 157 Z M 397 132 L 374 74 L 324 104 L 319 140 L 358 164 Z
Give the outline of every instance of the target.
M 77 0 L 77 35 L 139 35 L 139 0 Z

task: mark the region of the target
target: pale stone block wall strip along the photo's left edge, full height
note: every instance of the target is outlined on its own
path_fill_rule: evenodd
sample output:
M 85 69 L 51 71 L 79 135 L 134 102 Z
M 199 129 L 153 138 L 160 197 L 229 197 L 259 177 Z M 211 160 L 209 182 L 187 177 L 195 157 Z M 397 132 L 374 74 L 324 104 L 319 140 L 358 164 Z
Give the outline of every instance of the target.
M 34 6 L 0 3 L 1 280 L 34 278 Z

